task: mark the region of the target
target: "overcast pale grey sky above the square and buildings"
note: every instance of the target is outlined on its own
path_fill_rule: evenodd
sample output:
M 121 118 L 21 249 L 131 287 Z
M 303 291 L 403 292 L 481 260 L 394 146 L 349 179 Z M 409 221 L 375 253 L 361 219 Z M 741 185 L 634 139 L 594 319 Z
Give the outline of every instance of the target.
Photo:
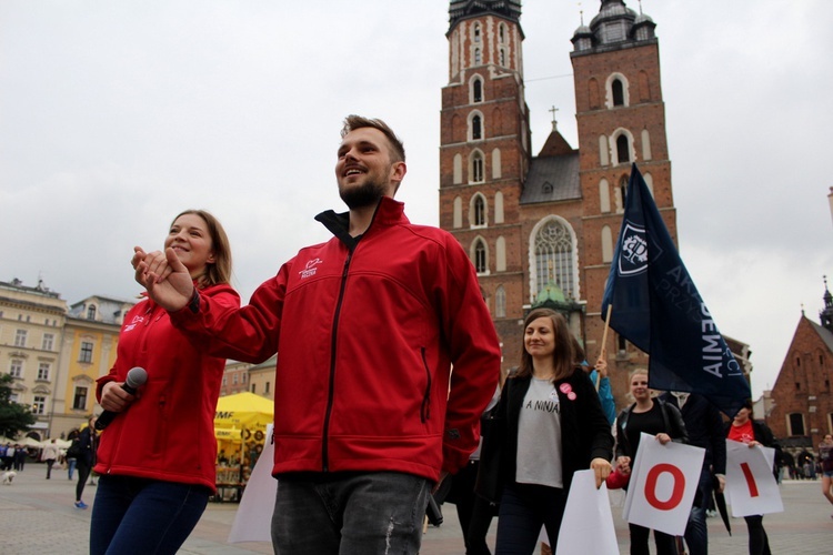
M 630 8 L 639 9 L 635 0 Z M 174 214 L 224 223 L 244 299 L 342 209 L 341 120 L 404 139 L 399 199 L 436 224 L 445 0 L 3 0 L 0 281 L 40 278 L 70 303 L 139 292 L 134 244 Z M 774 384 L 801 316 L 833 281 L 833 2 L 643 0 L 656 22 L 680 249 L 721 331 Z M 526 0 L 526 101 L 538 151 L 578 145 L 570 38 L 599 2 Z M 833 285 L 833 283 L 832 283 Z

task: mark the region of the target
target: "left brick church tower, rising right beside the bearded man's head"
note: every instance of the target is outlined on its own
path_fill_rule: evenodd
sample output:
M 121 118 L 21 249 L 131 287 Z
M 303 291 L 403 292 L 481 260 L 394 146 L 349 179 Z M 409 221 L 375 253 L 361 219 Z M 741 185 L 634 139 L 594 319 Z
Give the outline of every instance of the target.
M 518 1 L 452 1 L 442 90 L 440 226 L 474 263 L 498 333 L 523 317 L 525 241 L 519 211 L 530 163 Z

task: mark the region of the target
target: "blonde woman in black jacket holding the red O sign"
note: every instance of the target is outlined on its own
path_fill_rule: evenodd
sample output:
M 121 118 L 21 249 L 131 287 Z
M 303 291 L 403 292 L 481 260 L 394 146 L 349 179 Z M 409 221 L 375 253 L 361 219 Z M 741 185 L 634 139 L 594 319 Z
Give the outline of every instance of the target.
M 616 418 L 616 464 L 619 471 L 629 474 L 631 464 L 639 451 L 642 432 L 656 437 L 665 445 L 674 441 L 688 443 L 685 424 L 680 411 L 661 398 L 653 398 L 648 387 L 648 371 L 635 370 L 631 373 L 631 395 L 636 401 L 622 411 Z M 650 528 L 630 524 L 631 555 L 649 555 L 648 536 Z M 674 536 L 654 531 L 654 543 L 658 555 L 676 555 Z

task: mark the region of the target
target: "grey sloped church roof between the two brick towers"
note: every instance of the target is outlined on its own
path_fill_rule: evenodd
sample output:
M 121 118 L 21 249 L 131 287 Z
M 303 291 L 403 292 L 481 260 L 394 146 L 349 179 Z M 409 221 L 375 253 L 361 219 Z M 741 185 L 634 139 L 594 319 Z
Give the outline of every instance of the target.
M 521 193 L 521 204 L 581 199 L 579 151 L 533 158 Z

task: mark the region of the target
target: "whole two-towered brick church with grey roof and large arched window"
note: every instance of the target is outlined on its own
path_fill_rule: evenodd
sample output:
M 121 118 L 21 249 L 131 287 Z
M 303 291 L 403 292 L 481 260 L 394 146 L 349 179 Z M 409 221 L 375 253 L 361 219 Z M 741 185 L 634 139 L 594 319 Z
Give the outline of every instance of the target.
M 572 38 L 579 149 L 553 122 L 533 155 L 521 2 L 452 0 L 449 14 L 440 225 L 478 270 L 504 369 L 518 365 L 522 321 L 536 305 L 564 314 L 594 359 L 631 163 L 640 167 L 676 240 L 655 24 L 622 0 L 601 1 L 599 14 Z M 606 346 L 611 369 L 645 364 L 612 331 Z M 612 377 L 622 405 L 626 372 Z

